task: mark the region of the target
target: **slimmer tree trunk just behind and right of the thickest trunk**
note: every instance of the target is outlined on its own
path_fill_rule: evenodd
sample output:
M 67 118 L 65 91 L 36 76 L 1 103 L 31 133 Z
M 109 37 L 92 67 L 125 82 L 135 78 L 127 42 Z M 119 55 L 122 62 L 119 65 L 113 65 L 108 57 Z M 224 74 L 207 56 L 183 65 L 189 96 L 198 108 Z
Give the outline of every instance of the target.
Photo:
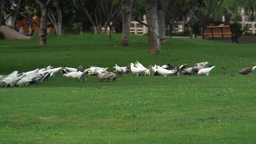
M 158 9 L 160 42 L 166 43 L 165 36 L 165 9 Z

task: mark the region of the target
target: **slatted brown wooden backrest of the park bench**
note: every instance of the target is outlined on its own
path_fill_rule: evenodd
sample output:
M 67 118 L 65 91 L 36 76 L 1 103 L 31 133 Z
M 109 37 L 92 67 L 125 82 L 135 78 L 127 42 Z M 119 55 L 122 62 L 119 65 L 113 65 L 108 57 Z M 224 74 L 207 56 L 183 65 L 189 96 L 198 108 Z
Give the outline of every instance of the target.
M 204 29 L 205 38 L 229 38 L 232 37 L 230 26 L 208 26 Z

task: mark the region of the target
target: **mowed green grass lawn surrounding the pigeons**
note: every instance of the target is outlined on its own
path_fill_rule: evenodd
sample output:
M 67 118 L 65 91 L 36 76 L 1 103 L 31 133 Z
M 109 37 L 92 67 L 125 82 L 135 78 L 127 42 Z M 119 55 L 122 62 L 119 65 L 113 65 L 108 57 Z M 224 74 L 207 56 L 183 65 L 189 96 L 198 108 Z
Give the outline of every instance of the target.
M 255 144 L 256 45 L 167 38 L 161 54 L 147 54 L 147 37 L 120 35 L 0 41 L 0 74 L 32 68 L 109 67 L 139 61 L 175 66 L 208 61 L 209 76 L 69 80 L 61 73 L 22 88 L 0 88 L 0 144 Z M 227 70 L 222 69 L 227 68 Z M 225 73 L 225 74 L 224 74 Z M 236 76 L 230 76 L 235 73 Z

